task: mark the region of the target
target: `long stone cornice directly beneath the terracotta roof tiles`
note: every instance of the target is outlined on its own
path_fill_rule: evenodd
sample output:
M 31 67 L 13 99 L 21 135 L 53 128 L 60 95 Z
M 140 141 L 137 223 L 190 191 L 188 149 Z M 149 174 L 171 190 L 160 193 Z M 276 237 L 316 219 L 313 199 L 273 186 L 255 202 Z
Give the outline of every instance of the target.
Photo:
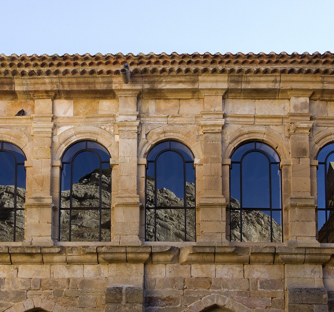
M 131 75 L 128 84 L 119 81 L 119 77 L 0 76 L 0 99 L 105 99 L 117 97 L 115 92 L 126 95 L 129 91 L 130 95 L 133 95 L 131 92 L 138 91 L 140 97 L 145 99 L 190 99 L 203 95 L 222 95 L 223 98 L 290 99 L 291 94 L 310 95 L 310 99 L 313 100 L 334 99 L 334 75 L 152 74 Z

